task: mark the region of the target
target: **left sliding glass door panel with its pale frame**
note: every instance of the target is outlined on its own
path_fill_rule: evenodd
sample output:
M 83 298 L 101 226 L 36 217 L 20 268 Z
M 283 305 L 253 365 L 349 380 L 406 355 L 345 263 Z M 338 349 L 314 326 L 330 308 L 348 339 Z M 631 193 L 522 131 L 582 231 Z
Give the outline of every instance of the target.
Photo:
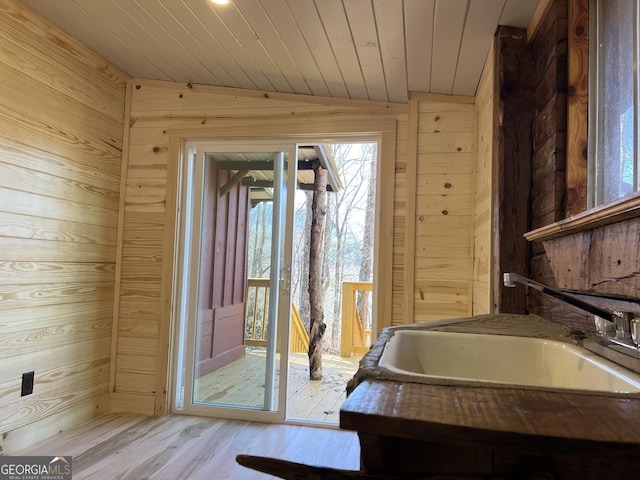
M 284 419 L 296 167 L 295 145 L 185 148 L 177 410 Z

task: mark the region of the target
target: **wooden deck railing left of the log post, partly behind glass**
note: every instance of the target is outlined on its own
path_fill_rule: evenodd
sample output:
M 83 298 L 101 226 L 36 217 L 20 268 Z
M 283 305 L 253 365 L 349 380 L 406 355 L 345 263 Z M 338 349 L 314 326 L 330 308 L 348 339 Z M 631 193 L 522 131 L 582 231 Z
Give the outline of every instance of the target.
M 269 279 L 250 278 L 247 289 L 247 326 L 245 344 L 267 345 L 267 312 L 269 311 Z M 295 304 L 291 304 L 290 351 L 307 353 L 309 334 L 302 323 Z

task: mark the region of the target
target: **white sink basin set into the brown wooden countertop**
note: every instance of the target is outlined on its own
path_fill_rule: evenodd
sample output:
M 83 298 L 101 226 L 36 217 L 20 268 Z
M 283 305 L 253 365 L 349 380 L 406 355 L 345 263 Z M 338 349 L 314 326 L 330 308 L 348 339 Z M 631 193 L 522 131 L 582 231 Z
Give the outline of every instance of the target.
M 582 347 L 541 338 L 398 330 L 379 365 L 425 383 L 640 393 L 640 375 Z

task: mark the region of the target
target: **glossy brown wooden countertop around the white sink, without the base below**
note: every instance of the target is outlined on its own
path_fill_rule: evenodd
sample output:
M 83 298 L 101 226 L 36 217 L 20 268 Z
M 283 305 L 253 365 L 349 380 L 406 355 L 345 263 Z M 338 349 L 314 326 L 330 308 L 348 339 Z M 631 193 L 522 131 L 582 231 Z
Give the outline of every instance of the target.
M 507 332 L 500 325 L 515 323 L 518 330 L 523 328 L 521 321 L 531 322 L 528 317 L 515 317 L 483 319 L 503 334 Z M 439 322 L 435 328 L 453 325 L 464 330 L 468 322 Z M 545 323 L 531 322 L 524 328 L 539 335 L 540 325 L 544 330 Z M 481 324 L 473 322 L 476 330 L 483 328 Z M 551 332 L 556 327 L 549 328 Z M 384 343 L 388 334 L 384 332 L 379 341 Z M 567 332 L 555 331 L 550 336 L 556 334 Z M 610 451 L 616 456 L 640 458 L 637 397 L 398 382 L 373 373 L 380 353 L 376 342 L 361 362 L 362 371 L 340 411 L 341 428 L 445 445 L 523 448 L 532 454 L 580 451 L 603 455 Z

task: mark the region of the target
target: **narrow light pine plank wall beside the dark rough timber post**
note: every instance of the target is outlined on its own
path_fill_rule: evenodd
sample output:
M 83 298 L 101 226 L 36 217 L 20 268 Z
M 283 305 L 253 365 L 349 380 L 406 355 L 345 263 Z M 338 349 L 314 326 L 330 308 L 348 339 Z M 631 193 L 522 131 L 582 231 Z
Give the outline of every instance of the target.
M 474 242 L 473 242 L 473 314 L 493 312 L 493 277 L 491 252 L 493 251 L 493 156 L 497 134 L 495 91 L 495 45 L 492 45 L 485 63 L 476 94 L 476 125 L 478 129 L 478 155 L 475 172 Z

